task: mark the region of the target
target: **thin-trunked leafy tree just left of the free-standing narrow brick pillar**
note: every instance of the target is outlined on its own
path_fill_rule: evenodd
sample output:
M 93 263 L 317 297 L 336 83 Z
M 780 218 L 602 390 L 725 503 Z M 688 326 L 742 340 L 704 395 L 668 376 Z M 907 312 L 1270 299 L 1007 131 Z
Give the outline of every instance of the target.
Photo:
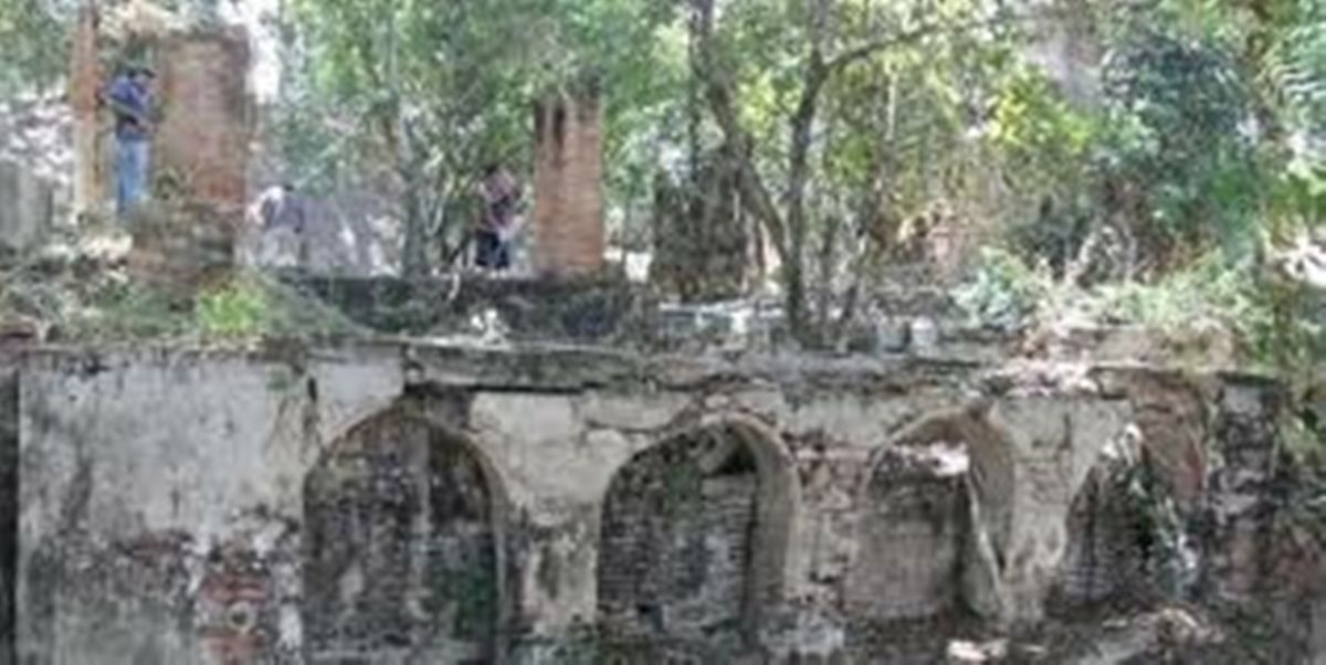
M 404 228 L 403 269 L 430 269 L 475 154 L 500 154 L 517 117 L 501 74 L 517 36 L 487 4 L 296 0 L 314 89 L 381 155 Z M 480 16 L 484 15 L 484 16 Z M 487 23 L 485 23 L 487 21 Z M 487 66 L 485 66 L 487 65 Z M 484 76 L 479 76 L 483 70 Z M 443 148 L 444 147 L 444 148 Z

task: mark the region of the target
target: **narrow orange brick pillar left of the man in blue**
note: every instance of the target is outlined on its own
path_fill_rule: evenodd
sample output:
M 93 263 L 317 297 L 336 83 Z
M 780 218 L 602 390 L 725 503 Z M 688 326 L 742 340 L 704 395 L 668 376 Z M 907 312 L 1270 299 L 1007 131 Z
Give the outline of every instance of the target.
M 97 58 L 97 3 L 78 11 L 69 52 L 69 106 L 74 115 L 74 216 L 95 212 L 101 200 L 101 65 Z

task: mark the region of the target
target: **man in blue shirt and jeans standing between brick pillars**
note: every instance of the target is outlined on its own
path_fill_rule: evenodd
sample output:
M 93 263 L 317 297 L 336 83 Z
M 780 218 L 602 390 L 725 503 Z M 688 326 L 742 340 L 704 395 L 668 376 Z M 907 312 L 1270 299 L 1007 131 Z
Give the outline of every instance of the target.
M 106 93 L 115 114 L 115 212 L 121 220 L 147 191 L 152 78 L 151 69 L 131 68 Z

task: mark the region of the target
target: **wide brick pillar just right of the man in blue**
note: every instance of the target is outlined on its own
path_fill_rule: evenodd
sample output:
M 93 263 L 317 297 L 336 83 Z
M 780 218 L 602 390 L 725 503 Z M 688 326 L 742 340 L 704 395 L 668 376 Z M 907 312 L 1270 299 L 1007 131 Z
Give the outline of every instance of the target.
M 152 136 L 154 180 L 225 217 L 248 199 L 251 118 L 243 29 L 180 32 L 156 48 L 162 119 Z

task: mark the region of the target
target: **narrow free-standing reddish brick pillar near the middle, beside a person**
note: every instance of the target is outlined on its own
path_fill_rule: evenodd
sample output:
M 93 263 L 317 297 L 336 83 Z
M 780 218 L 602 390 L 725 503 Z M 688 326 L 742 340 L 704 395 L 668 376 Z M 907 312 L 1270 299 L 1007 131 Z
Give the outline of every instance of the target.
M 603 265 L 603 152 L 598 90 L 534 107 L 534 268 L 568 276 Z

